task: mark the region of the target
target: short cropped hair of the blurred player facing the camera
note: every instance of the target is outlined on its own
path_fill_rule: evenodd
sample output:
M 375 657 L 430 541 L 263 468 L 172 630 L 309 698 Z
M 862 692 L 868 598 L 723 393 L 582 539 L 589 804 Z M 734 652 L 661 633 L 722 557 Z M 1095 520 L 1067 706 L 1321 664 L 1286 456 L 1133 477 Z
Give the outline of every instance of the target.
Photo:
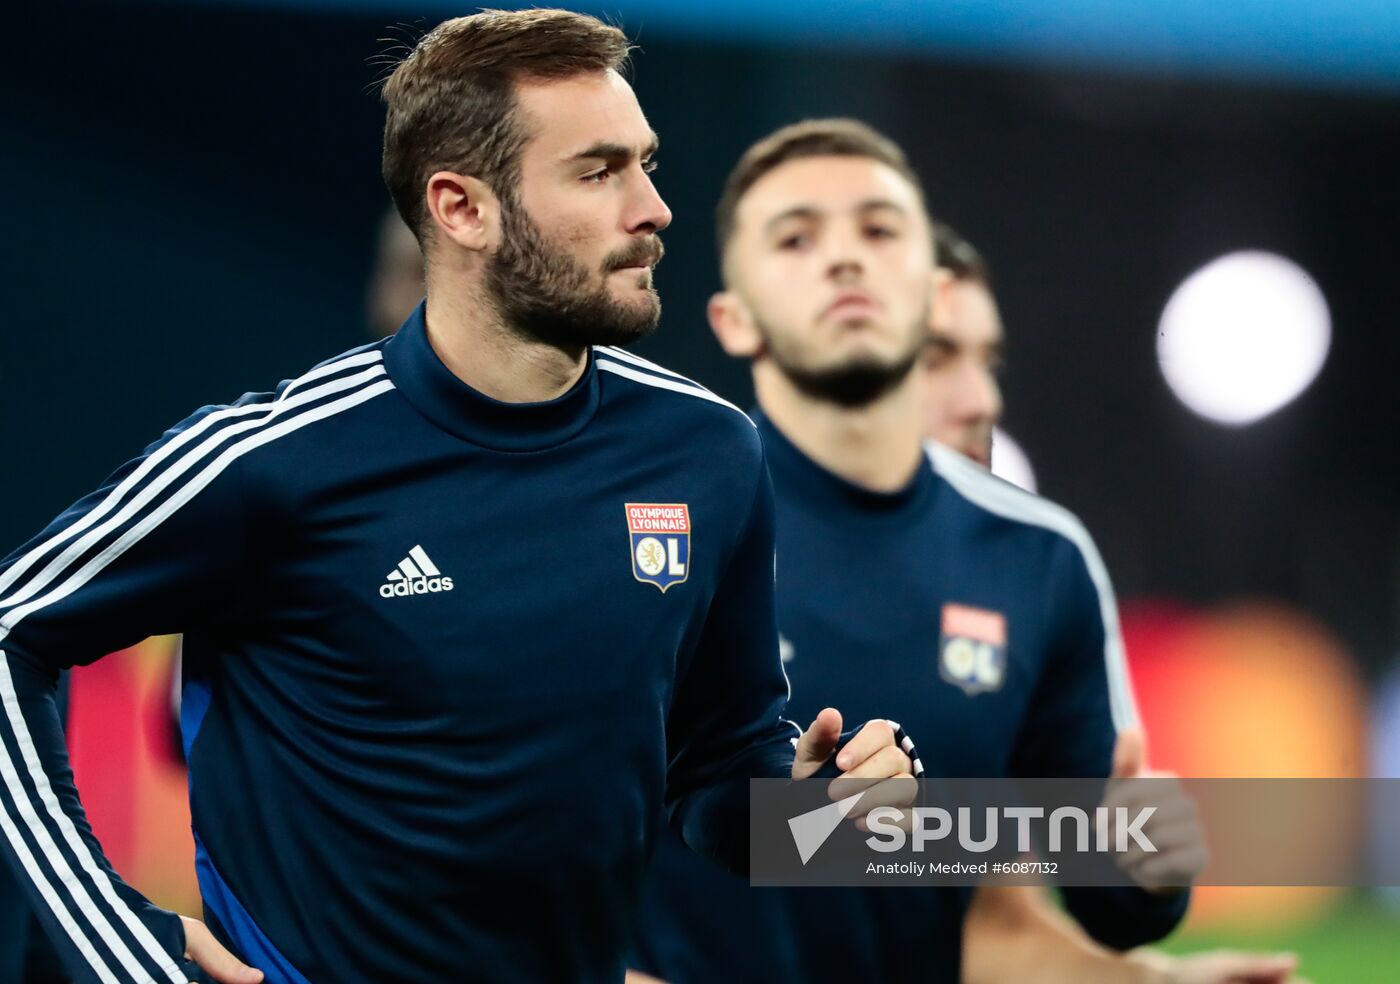
M 784 126 L 743 151 L 724 182 L 724 193 L 715 206 L 715 245 L 721 262 L 734 237 L 739 200 L 763 175 L 788 161 L 804 157 L 868 157 L 897 171 L 924 199 L 924 186 L 909 165 L 909 158 L 893 140 L 855 119 L 808 119 Z

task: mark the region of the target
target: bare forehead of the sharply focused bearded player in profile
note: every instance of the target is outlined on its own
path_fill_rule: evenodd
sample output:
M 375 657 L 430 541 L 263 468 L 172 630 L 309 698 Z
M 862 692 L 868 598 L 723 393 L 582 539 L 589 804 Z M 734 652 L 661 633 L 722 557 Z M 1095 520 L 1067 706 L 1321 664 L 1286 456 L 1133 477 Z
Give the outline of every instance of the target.
M 515 97 L 529 133 L 525 154 L 538 161 L 568 162 L 595 150 L 645 155 L 655 148 L 657 134 L 637 94 L 616 71 L 524 80 Z

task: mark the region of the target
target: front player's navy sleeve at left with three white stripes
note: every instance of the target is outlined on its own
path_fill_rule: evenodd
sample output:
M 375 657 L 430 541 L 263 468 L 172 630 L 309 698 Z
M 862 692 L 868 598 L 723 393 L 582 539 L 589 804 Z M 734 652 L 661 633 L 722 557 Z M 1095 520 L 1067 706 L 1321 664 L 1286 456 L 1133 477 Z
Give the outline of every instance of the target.
M 272 407 L 262 396 L 202 410 L 0 564 L 0 852 L 83 984 L 206 978 L 181 956 L 179 917 L 127 886 L 92 836 L 59 675 L 237 609 L 237 458 Z

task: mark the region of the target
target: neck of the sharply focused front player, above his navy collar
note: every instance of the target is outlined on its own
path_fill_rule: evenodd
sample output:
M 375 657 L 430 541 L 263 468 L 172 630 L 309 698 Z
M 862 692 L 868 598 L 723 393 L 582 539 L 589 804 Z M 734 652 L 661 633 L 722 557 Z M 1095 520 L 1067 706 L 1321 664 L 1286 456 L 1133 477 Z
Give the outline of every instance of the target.
M 428 288 L 428 343 L 458 379 L 503 403 L 563 396 L 588 365 L 584 347 L 564 350 L 510 330 L 484 291 Z

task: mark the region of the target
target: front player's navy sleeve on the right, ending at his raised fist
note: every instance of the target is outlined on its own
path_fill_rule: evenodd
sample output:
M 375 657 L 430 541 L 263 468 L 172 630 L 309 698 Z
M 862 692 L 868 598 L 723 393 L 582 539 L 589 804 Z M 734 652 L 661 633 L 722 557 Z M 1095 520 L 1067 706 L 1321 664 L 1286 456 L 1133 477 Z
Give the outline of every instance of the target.
M 801 733 L 783 719 L 787 675 L 774 616 L 774 507 L 760 462 L 742 539 L 666 724 L 666 805 L 693 850 L 735 872 L 749 865 L 749 784 L 787 778 Z

